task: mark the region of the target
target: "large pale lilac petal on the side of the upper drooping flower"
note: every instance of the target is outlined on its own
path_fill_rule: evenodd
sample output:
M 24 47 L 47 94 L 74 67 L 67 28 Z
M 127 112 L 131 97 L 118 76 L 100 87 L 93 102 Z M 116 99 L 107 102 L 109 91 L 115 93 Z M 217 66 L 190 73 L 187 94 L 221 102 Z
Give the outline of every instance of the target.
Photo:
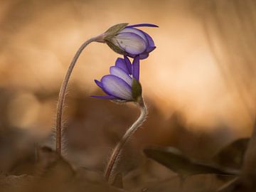
M 146 50 L 147 42 L 136 33 L 119 33 L 114 37 L 116 46 L 130 54 L 139 55 Z

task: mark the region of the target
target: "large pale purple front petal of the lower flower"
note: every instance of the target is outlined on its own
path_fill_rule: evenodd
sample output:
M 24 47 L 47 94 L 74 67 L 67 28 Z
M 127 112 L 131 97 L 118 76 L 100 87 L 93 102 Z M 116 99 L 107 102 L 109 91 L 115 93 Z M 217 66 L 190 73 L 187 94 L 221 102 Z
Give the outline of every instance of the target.
M 132 87 L 124 80 L 114 75 L 105 75 L 101 79 L 103 90 L 107 95 L 117 97 L 121 100 L 132 100 Z

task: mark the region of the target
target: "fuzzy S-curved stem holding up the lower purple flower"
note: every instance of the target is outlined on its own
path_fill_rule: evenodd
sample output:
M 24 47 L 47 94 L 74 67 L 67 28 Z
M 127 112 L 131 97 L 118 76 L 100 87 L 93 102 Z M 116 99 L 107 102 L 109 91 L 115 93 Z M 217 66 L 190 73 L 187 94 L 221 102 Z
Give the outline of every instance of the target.
M 143 98 L 138 102 L 141 114 L 139 115 L 139 118 L 132 124 L 129 129 L 127 129 L 127 132 L 125 132 L 124 137 L 120 140 L 120 142 L 117 144 L 117 146 L 114 147 L 114 150 L 112 151 L 112 155 L 110 156 L 110 160 L 107 163 L 107 168 L 105 170 L 105 179 L 107 181 L 113 180 L 116 173 L 114 173 L 114 169 L 116 168 L 119 156 L 122 154 L 122 149 L 124 145 L 129 141 L 129 139 L 132 137 L 134 132 L 137 131 L 137 129 L 142 125 L 142 123 L 146 120 L 147 115 L 147 109 L 146 105 L 144 103 Z

